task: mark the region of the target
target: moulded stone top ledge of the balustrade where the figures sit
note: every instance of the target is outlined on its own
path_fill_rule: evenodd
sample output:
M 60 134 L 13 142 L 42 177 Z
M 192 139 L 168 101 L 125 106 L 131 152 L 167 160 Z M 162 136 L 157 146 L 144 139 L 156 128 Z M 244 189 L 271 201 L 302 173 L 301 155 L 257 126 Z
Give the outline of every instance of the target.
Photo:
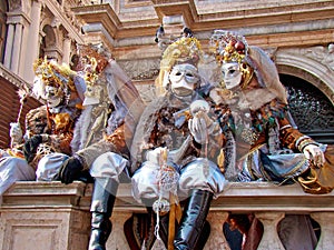
M 63 208 L 89 210 L 92 184 L 75 181 L 18 181 L 4 194 L 1 210 L 8 208 Z M 131 196 L 130 183 L 118 188 L 115 210 L 146 211 Z M 298 184 L 278 187 L 269 182 L 229 182 L 212 202 L 213 211 L 334 211 L 334 192 L 305 193 Z

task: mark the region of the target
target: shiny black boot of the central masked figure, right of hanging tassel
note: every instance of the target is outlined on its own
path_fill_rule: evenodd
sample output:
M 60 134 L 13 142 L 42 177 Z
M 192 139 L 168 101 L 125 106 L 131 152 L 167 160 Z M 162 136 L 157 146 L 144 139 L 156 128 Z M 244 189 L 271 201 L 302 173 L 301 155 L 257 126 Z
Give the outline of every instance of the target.
M 180 227 L 176 232 L 174 240 L 175 249 L 196 249 L 196 244 L 202 234 L 212 200 L 212 192 L 193 190 L 188 203 L 185 207 Z

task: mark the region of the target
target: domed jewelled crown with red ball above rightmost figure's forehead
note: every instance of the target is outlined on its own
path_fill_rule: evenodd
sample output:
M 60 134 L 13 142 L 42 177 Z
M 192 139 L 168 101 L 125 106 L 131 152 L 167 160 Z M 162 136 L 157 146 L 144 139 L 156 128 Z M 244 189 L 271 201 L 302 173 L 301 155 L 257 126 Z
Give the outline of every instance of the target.
M 209 50 L 217 62 L 243 62 L 248 53 L 248 44 L 244 36 L 227 30 L 215 30 L 209 41 Z

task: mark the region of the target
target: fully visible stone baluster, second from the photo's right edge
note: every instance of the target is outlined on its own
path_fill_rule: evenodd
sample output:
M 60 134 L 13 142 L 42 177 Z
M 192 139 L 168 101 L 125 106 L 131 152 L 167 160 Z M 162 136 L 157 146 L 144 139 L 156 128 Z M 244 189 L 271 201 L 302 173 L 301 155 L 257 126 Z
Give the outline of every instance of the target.
M 284 218 L 284 212 L 256 212 L 255 216 L 264 227 L 257 250 L 284 250 L 277 233 L 277 224 Z

